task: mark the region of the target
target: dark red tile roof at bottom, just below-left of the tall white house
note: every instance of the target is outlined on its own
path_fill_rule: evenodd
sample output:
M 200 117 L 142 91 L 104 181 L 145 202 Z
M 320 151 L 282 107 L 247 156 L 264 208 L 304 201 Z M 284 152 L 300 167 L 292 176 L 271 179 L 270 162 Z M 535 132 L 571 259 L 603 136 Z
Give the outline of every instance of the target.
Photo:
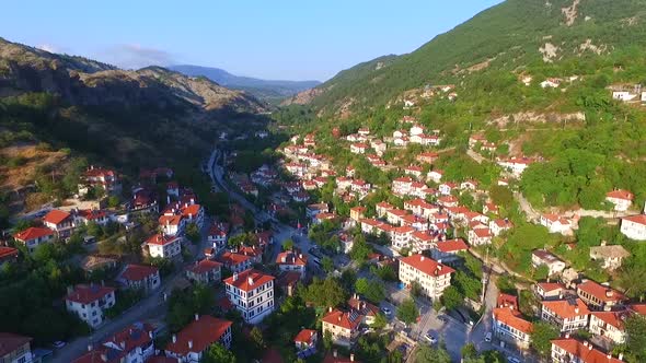
M 231 321 L 218 319 L 209 315 L 201 315 L 197 320 L 191 321 L 182 331 L 176 335 L 176 341 L 166 346 L 168 351 L 186 356 L 188 352 L 201 352 L 210 344 L 220 340 L 227 329 L 231 327 Z M 188 348 L 188 342 L 193 342 L 193 348 Z

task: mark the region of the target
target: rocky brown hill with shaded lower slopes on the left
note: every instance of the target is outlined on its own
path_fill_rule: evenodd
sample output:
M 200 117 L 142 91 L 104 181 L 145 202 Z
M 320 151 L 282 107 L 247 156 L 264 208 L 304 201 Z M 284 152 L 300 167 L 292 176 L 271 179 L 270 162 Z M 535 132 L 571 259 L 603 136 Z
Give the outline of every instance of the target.
M 122 70 L 0 38 L 0 194 L 4 185 L 36 178 L 9 180 L 25 174 L 18 168 L 25 162 L 4 165 L 15 148 L 43 143 L 48 147 L 41 149 L 136 172 L 191 163 L 212 148 L 216 134 L 246 131 L 269 110 L 205 78 L 161 67 Z

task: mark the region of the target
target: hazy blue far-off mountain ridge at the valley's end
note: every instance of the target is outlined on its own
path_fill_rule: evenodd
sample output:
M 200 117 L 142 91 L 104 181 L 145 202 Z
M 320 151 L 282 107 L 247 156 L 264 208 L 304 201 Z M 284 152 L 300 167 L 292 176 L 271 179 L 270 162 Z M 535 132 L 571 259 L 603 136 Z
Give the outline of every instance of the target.
M 265 101 L 289 97 L 321 84 L 319 81 L 276 81 L 240 77 L 231 74 L 223 69 L 211 67 L 178 65 L 169 68 L 191 77 L 206 77 L 222 86 L 245 91 Z

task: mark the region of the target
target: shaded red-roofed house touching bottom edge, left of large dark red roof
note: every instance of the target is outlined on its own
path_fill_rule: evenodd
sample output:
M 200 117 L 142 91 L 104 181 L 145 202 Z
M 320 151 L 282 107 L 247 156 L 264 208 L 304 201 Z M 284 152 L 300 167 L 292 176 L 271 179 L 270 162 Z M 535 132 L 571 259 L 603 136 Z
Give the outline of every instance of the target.
M 89 346 L 89 351 L 72 363 L 142 363 L 154 354 L 154 328 L 148 324 L 136 323 L 105 339 Z

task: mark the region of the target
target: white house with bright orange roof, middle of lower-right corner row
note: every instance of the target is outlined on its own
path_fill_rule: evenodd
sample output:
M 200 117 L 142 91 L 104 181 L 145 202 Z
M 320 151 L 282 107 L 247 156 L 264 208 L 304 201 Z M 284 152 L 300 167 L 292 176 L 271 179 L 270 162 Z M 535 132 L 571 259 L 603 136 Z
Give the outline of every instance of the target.
M 555 325 L 560 331 L 574 331 L 588 326 L 590 311 L 580 298 L 541 302 L 541 319 Z

